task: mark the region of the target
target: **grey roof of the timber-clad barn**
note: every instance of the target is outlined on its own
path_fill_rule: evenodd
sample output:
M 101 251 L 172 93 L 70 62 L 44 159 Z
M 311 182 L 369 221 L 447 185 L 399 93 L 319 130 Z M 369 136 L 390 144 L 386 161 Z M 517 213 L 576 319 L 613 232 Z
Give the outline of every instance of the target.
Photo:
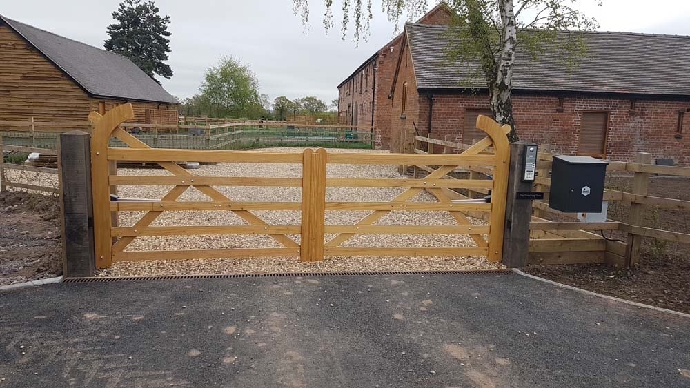
M 92 96 L 176 103 L 156 81 L 128 58 L 0 15 L 31 45 Z

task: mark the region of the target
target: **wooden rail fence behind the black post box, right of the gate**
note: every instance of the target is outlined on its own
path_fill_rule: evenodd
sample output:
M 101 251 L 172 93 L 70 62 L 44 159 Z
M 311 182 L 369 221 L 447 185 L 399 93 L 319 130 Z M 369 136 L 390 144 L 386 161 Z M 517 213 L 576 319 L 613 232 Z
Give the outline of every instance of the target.
M 415 153 L 435 152 L 454 153 L 471 147 L 462 143 L 416 136 Z M 634 265 L 640 258 L 642 237 L 658 238 L 665 241 L 690 243 L 690 234 L 668 230 L 642 227 L 643 212 L 647 206 L 671 210 L 690 210 L 690 201 L 675 198 L 661 198 L 647 195 L 651 174 L 690 177 L 690 168 L 651 164 L 650 154 L 638 154 L 634 163 L 607 161 L 607 172 L 633 174 L 633 192 L 605 190 L 604 201 L 629 203 L 630 216 L 627 223 L 607 220 L 602 223 L 577 221 L 575 214 L 563 213 L 549 207 L 549 188 L 551 186 L 551 165 L 553 154 L 540 152 L 535 178 L 536 191 L 546 192 L 544 201 L 533 201 L 533 217 L 530 224 L 529 261 L 533 264 L 570 263 L 611 263 L 615 265 Z M 413 174 L 419 176 L 428 171 L 424 165 L 414 166 Z M 493 174 L 491 167 L 471 166 L 455 170 L 456 174 L 468 174 L 473 178 Z M 452 178 L 449 176 L 448 178 Z M 476 198 L 488 194 L 488 190 L 470 189 L 465 198 Z M 462 195 L 462 194 L 458 194 Z M 555 218 L 558 221 L 550 221 Z M 627 233 L 627 241 L 604 238 L 604 230 L 617 230 Z

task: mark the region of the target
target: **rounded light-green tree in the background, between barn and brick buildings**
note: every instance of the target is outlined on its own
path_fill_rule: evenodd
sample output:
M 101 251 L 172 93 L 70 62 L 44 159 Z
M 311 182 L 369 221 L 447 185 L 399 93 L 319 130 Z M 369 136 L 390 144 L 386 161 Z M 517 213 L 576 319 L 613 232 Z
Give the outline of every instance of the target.
M 199 90 L 214 116 L 257 118 L 264 114 L 259 80 L 250 68 L 233 57 L 223 57 L 218 65 L 206 70 Z

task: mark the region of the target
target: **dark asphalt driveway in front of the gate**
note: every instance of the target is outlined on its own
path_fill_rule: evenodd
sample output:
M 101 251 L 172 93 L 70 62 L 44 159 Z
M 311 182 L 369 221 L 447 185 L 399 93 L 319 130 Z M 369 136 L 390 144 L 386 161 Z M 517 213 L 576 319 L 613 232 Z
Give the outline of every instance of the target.
M 517 274 L 0 294 L 0 387 L 690 387 L 690 319 Z

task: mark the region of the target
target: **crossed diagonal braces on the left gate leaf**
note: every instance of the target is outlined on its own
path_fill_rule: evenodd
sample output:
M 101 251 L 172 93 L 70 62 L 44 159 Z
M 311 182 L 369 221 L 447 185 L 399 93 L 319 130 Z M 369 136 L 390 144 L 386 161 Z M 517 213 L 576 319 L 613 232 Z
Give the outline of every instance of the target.
M 137 149 L 146 149 L 146 148 L 151 148 L 149 147 L 146 143 L 143 141 L 140 141 L 137 139 L 135 136 L 132 136 L 132 134 L 129 134 L 125 130 L 122 130 L 121 128 L 117 128 L 115 131 L 112 132 L 113 135 L 115 135 L 118 139 L 126 143 L 132 148 L 137 148 Z M 172 174 L 175 174 L 175 176 L 190 176 L 193 177 L 194 174 L 191 174 L 187 170 L 184 170 L 184 168 L 179 167 L 176 163 L 172 161 L 164 161 L 164 162 L 156 162 L 158 163 L 161 167 L 164 169 L 168 170 Z M 193 185 L 193 186 L 175 186 L 166 196 L 164 196 L 161 201 L 175 201 L 177 198 L 179 198 L 186 190 L 188 187 L 195 187 L 199 192 L 206 194 L 209 198 L 213 199 L 213 201 L 228 201 L 232 202 L 230 198 L 219 192 L 213 187 L 210 186 L 203 186 L 203 185 Z M 262 220 L 258 216 L 255 216 L 252 212 L 249 212 L 248 210 L 230 210 L 231 212 L 237 214 L 240 218 L 244 219 L 244 221 L 247 221 L 250 225 L 269 225 L 266 223 L 266 221 Z M 135 223 L 136 227 L 146 227 L 150 225 L 153 221 L 158 218 L 163 213 L 162 210 L 152 210 L 150 212 L 147 212 L 137 223 Z M 284 247 L 288 248 L 299 248 L 299 244 L 297 244 L 292 238 L 289 238 L 285 234 L 268 234 L 268 236 L 274 238 L 276 241 L 284 245 Z M 134 241 L 135 237 L 133 236 L 127 236 L 127 237 L 122 237 L 119 238 L 119 240 L 112 245 L 112 250 L 114 252 L 122 252 L 124 249 Z

